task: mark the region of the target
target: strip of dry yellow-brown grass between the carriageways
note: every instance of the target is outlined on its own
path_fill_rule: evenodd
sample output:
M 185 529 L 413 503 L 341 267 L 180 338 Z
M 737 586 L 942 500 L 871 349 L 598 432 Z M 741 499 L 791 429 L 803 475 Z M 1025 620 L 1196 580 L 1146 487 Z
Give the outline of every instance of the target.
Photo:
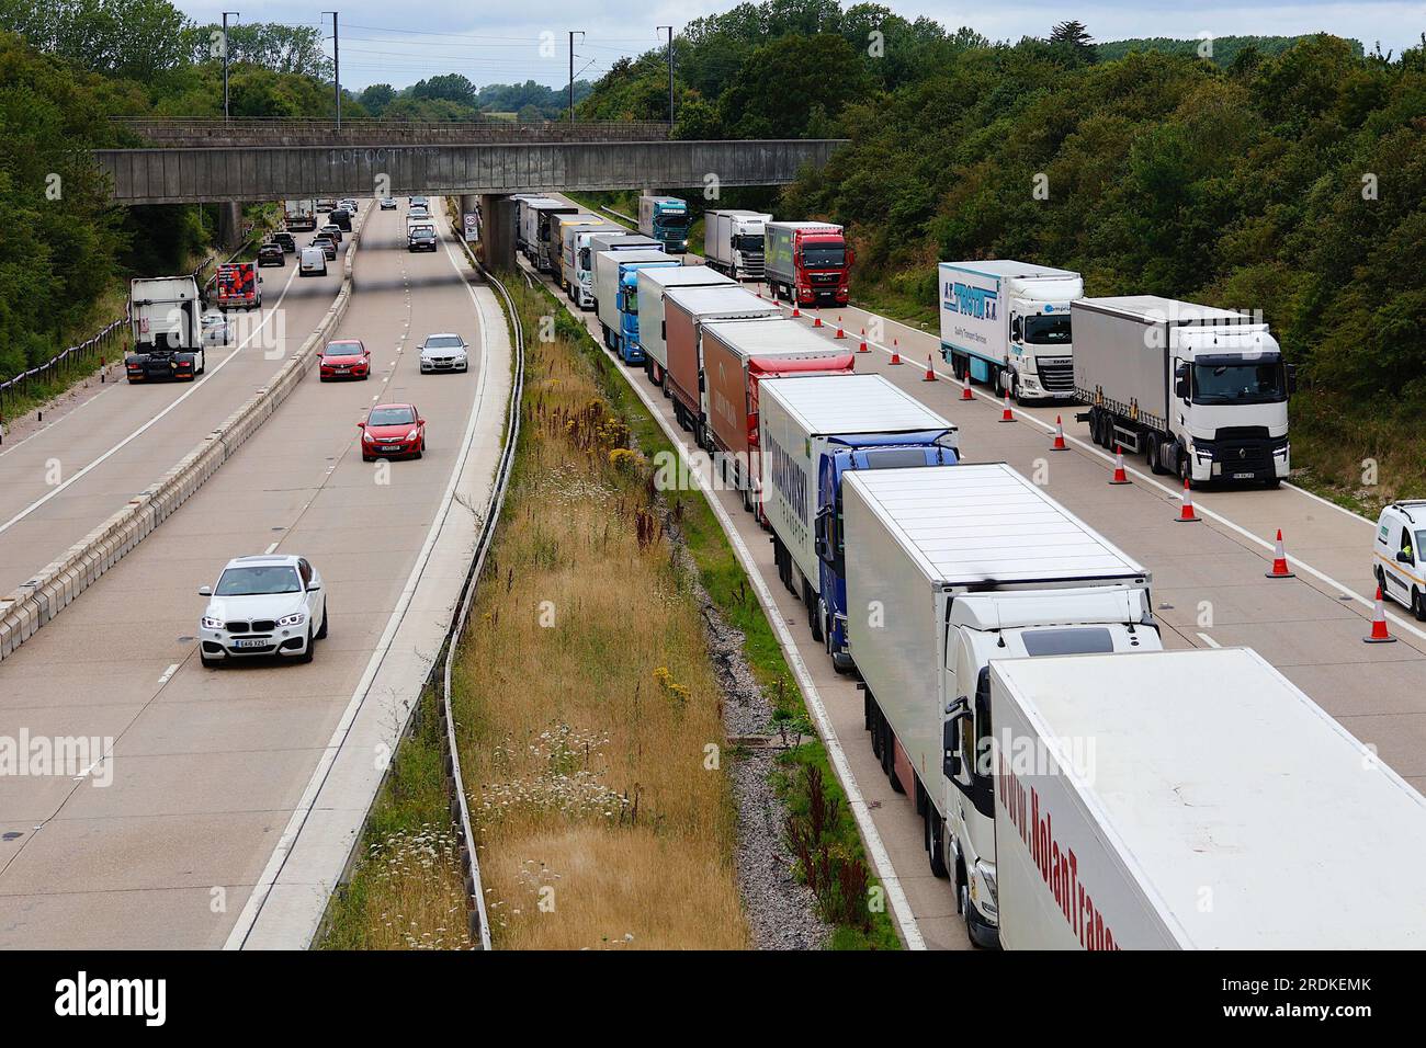
M 746 948 L 719 689 L 647 463 L 572 345 L 526 368 L 456 680 L 495 945 Z

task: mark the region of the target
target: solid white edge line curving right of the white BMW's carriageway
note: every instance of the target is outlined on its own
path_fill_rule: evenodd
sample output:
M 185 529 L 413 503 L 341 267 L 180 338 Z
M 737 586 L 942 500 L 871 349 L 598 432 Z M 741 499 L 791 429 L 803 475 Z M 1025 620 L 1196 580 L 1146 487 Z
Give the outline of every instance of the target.
M 455 503 L 455 489 L 461 481 L 461 473 L 465 469 L 466 459 L 471 455 L 472 445 L 475 443 L 475 429 L 476 422 L 481 418 L 481 402 L 485 399 L 486 375 L 489 371 L 486 368 L 486 361 L 491 358 L 489 346 L 485 338 L 485 312 L 481 309 L 481 299 L 476 298 L 475 288 L 465 281 L 465 272 L 456 265 L 455 258 L 451 257 L 449 245 L 446 247 L 446 258 L 449 258 L 451 265 L 455 267 L 456 274 L 461 275 L 461 281 L 465 284 L 465 289 L 466 294 L 471 295 L 471 301 L 475 302 L 476 324 L 481 329 L 481 345 L 486 349 L 481 354 L 481 381 L 476 386 L 475 398 L 471 402 L 471 421 L 465 428 L 465 439 L 461 442 L 461 453 L 456 456 L 456 462 L 451 468 L 451 481 L 441 499 L 441 508 L 436 512 L 435 519 L 431 522 L 431 528 L 426 530 L 426 540 L 422 545 L 421 552 L 416 555 L 416 562 L 411 567 L 411 575 L 406 577 L 406 585 L 402 589 L 401 596 L 396 599 L 396 606 L 392 609 L 391 617 L 386 619 L 386 627 L 382 630 L 381 639 L 376 642 L 376 647 L 371 653 L 371 659 L 366 660 L 366 669 L 362 673 L 361 680 L 356 682 L 356 689 L 352 692 L 352 697 L 347 703 L 347 709 L 342 711 L 342 719 L 332 731 L 332 737 L 328 740 L 327 749 L 322 751 L 322 759 L 318 761 L 317 769 L 312 771 L 312 777 L 307 783 L 307 788 L 302 791 L 302 798 L 297 803 L 297 808 L 292 811 L 291 818 L 288 818 L 287 827 L 282 830 L 282 836 L 278 838 L 271 858 L 268 858 L 262 874 L 258 877 L 258 883 L 252 887 L 252 894 L 248 895 L 248 901 L 242 907 L 242 913 L 238 914 L 237 924 L 234 924 L 232 931 L 228 933 L 228 938 L 222 945 L 224 950 L 242 948 L 244 941 L 257 924 L 258 914 L 262 911 L 262 904 L 267 901 L 272 891 L 272 885 L 277 884 L 277 878 L 282 873 L 282 867 L 287 864 L 288 856 L 292 854 L 292 847 L 297 844 L 302 826 L 307 823 L 308 814 L 317 804 L 317 797 L 327 781 L 327 776 L 331 773 L 332 764 L 337 761 L 337 754 L 345 744 L 347 734 L 351 731 L 351 727 L 356 720 L 356 714 L 361 711 L 362 703 L 366 700 L 366 693 L 371 689 L 372 682 L 376 679 L 376 672 L 381 669 L 381 663 L 386 659 L 386 653 L 391 650 L 396 630 L 401 627 L 401 622 L 406 616 L 406 609 L 411 607 L 411 600 L 415 597 L 416 586 L 425 573 L 426 562 L 431 559 L 431 550 L 435 548 L 436 536 L 441 533 L 441 526 L 445 523 L 445 519 L 451 512 L 451 506 Z M 513 352 L 513 346 L 511 351 Z M 455 609 L 452 609 L 452 615 Z

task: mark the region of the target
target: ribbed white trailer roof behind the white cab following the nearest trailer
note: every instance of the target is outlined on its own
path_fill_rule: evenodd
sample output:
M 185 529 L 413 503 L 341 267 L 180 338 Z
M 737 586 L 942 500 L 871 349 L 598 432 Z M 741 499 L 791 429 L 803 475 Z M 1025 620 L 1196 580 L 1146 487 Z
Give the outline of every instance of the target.
M 944 586 L 1149 577 L 1004 462 L 853 471 L 843 483 L 860 489 L 923 575 Z

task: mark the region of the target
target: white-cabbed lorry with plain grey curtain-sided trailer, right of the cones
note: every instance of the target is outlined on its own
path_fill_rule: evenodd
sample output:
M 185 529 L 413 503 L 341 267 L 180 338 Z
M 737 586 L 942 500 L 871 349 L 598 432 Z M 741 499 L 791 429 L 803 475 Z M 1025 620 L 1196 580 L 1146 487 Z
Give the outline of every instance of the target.
M 1082 298 L 1071 317 L 1075 389 L 1091 405 L 1079 418 L 1095 443 L 1195 485 L 1288 476 L 1296 371 L 1266 324 L 1155 295 Z

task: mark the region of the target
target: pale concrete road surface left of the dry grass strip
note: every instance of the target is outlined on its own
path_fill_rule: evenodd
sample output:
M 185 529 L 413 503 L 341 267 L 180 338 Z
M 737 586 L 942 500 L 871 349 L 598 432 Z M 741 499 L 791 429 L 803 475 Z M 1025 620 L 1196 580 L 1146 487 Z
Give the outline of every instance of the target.
M 248 930 L 264 928 L 262 904 L 288 860 L 318 853 L 309 865 L 322 874 L 278 908 L 305 907 L 308 931 L 314 907 L 319 915 L 379 777 L 376 739 L 395 741 L 392 710 L 409 703 L 381 713 L 379 696 L 419 689 L 449 622 L 473 545 L 463 505 L 483 505 L 511 374 L 501 312 L 458 248 L 408 254 L 404 208 L 362 211 L 337 335 L 365 341 L 374 378 L 321 384 L 312 368 L 178 512 L 0 664 L 0 736 L 113 740 L 83 774 L 0 779 L 0 948 L 251 945 Z M 281 302 L 291 349 L 329 307 L 341 267 L 332 274 L 295 284 Z M 435 331 L 466 338 L 469 374 L 419 374 L 416 345 Z M 232 366 L 215 371 L 224 361 Z M 140 398 L 150 406 L 138 419 L 178 404 L 161 435 L 148 431 L 91 471 L 86 481 L 97 483 L 31 513 L 44 523 L 30 535 L 54 538 L 30 566 L 50 546 L 58 552 L 60 529 L 78 538 L 84 513 L 101 519 L 157 479 L 279 364 L 251 348 L 210 356 L 207 385 L 106 391 L 31 438 L 33 448 L 7 451 L 0 462 L 23 462 L 14 472 L 29 485 L 6 495 L 13 516 L 41 493 L 34 463 L 97 462 L 134 428 Z M 361 462 L 355 423 L 378 398 L 416 404 L 428 419 L 424 459 Z M 16 546 L 30 546 L 20 525 L 0 533 L 11 573 L 26 562 Z M 305 666 L 201 667 L 197 587 L 230 558 L 265 550 L 305 555 L 321 570 L 328 639 Z M 314 803 L 328 791 L 341 794 L 339 818 Z

